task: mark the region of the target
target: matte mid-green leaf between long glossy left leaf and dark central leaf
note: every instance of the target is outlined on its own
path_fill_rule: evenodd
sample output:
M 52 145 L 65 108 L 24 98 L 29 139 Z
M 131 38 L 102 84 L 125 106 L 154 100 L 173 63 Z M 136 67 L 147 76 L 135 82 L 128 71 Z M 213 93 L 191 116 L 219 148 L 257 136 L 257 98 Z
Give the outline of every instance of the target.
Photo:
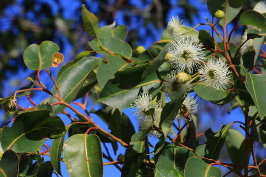
M 118 70 L 121 70 L 127 65 L 126 61 L 116 56 L 106 56 L 105 58 L 107 60 L 107 63 L 102 60 L 99 63 L 97 71 L 97 79 L 101 88 L 104 87 L 108 80 L 115 77 L 114 74 Z

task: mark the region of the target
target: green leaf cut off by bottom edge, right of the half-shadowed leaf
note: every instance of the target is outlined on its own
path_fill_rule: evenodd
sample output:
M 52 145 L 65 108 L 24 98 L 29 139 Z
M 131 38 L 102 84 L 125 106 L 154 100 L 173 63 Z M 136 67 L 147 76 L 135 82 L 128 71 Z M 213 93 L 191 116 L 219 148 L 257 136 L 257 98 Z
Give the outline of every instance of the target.
M 198 157 L 190 157 L 185 166 L 185 177 L 222 177 L 222 171 L 217 167 L 206 164 Z

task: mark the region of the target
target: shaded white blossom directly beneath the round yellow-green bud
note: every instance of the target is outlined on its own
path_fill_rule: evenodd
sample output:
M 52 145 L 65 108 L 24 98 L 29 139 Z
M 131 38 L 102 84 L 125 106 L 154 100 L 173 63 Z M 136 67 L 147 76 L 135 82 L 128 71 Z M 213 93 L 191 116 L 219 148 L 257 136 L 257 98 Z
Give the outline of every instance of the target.
M 192 89 L 191 84 L 179 84 L 176 81 L 175 76 L 177 73 L 179 73 L 177 70 L 171 71 L 169 74 L 167 74 L 166 79 L 163 83 L 165 86 L 165 92 L 169 95 L 170 99 L 183 96 Z

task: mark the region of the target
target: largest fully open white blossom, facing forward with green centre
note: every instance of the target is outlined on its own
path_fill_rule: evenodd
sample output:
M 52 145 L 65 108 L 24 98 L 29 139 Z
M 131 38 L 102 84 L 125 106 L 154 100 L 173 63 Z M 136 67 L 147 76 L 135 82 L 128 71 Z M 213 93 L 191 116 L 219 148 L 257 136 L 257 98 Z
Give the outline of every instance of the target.
M 203 45 L 198 44 L 192 37 L 174 39 L 169 44 L 167 54 L 172 56 L 168 59 L 172 67 L 188 73 L 192 73 L 193 68 L 197 67 L 205 56 Z

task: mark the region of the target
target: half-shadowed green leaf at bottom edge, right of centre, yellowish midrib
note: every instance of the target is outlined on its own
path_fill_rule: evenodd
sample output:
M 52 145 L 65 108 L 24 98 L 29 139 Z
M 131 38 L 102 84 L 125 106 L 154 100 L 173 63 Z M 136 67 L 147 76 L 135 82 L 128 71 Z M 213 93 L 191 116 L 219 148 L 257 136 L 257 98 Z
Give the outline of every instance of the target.
M 160 153 L 155 155 L 155 166 L 163 177 L 183 177 L 186 161 L 193 156 L 193 152 L 187 148 L 166 143 Z

